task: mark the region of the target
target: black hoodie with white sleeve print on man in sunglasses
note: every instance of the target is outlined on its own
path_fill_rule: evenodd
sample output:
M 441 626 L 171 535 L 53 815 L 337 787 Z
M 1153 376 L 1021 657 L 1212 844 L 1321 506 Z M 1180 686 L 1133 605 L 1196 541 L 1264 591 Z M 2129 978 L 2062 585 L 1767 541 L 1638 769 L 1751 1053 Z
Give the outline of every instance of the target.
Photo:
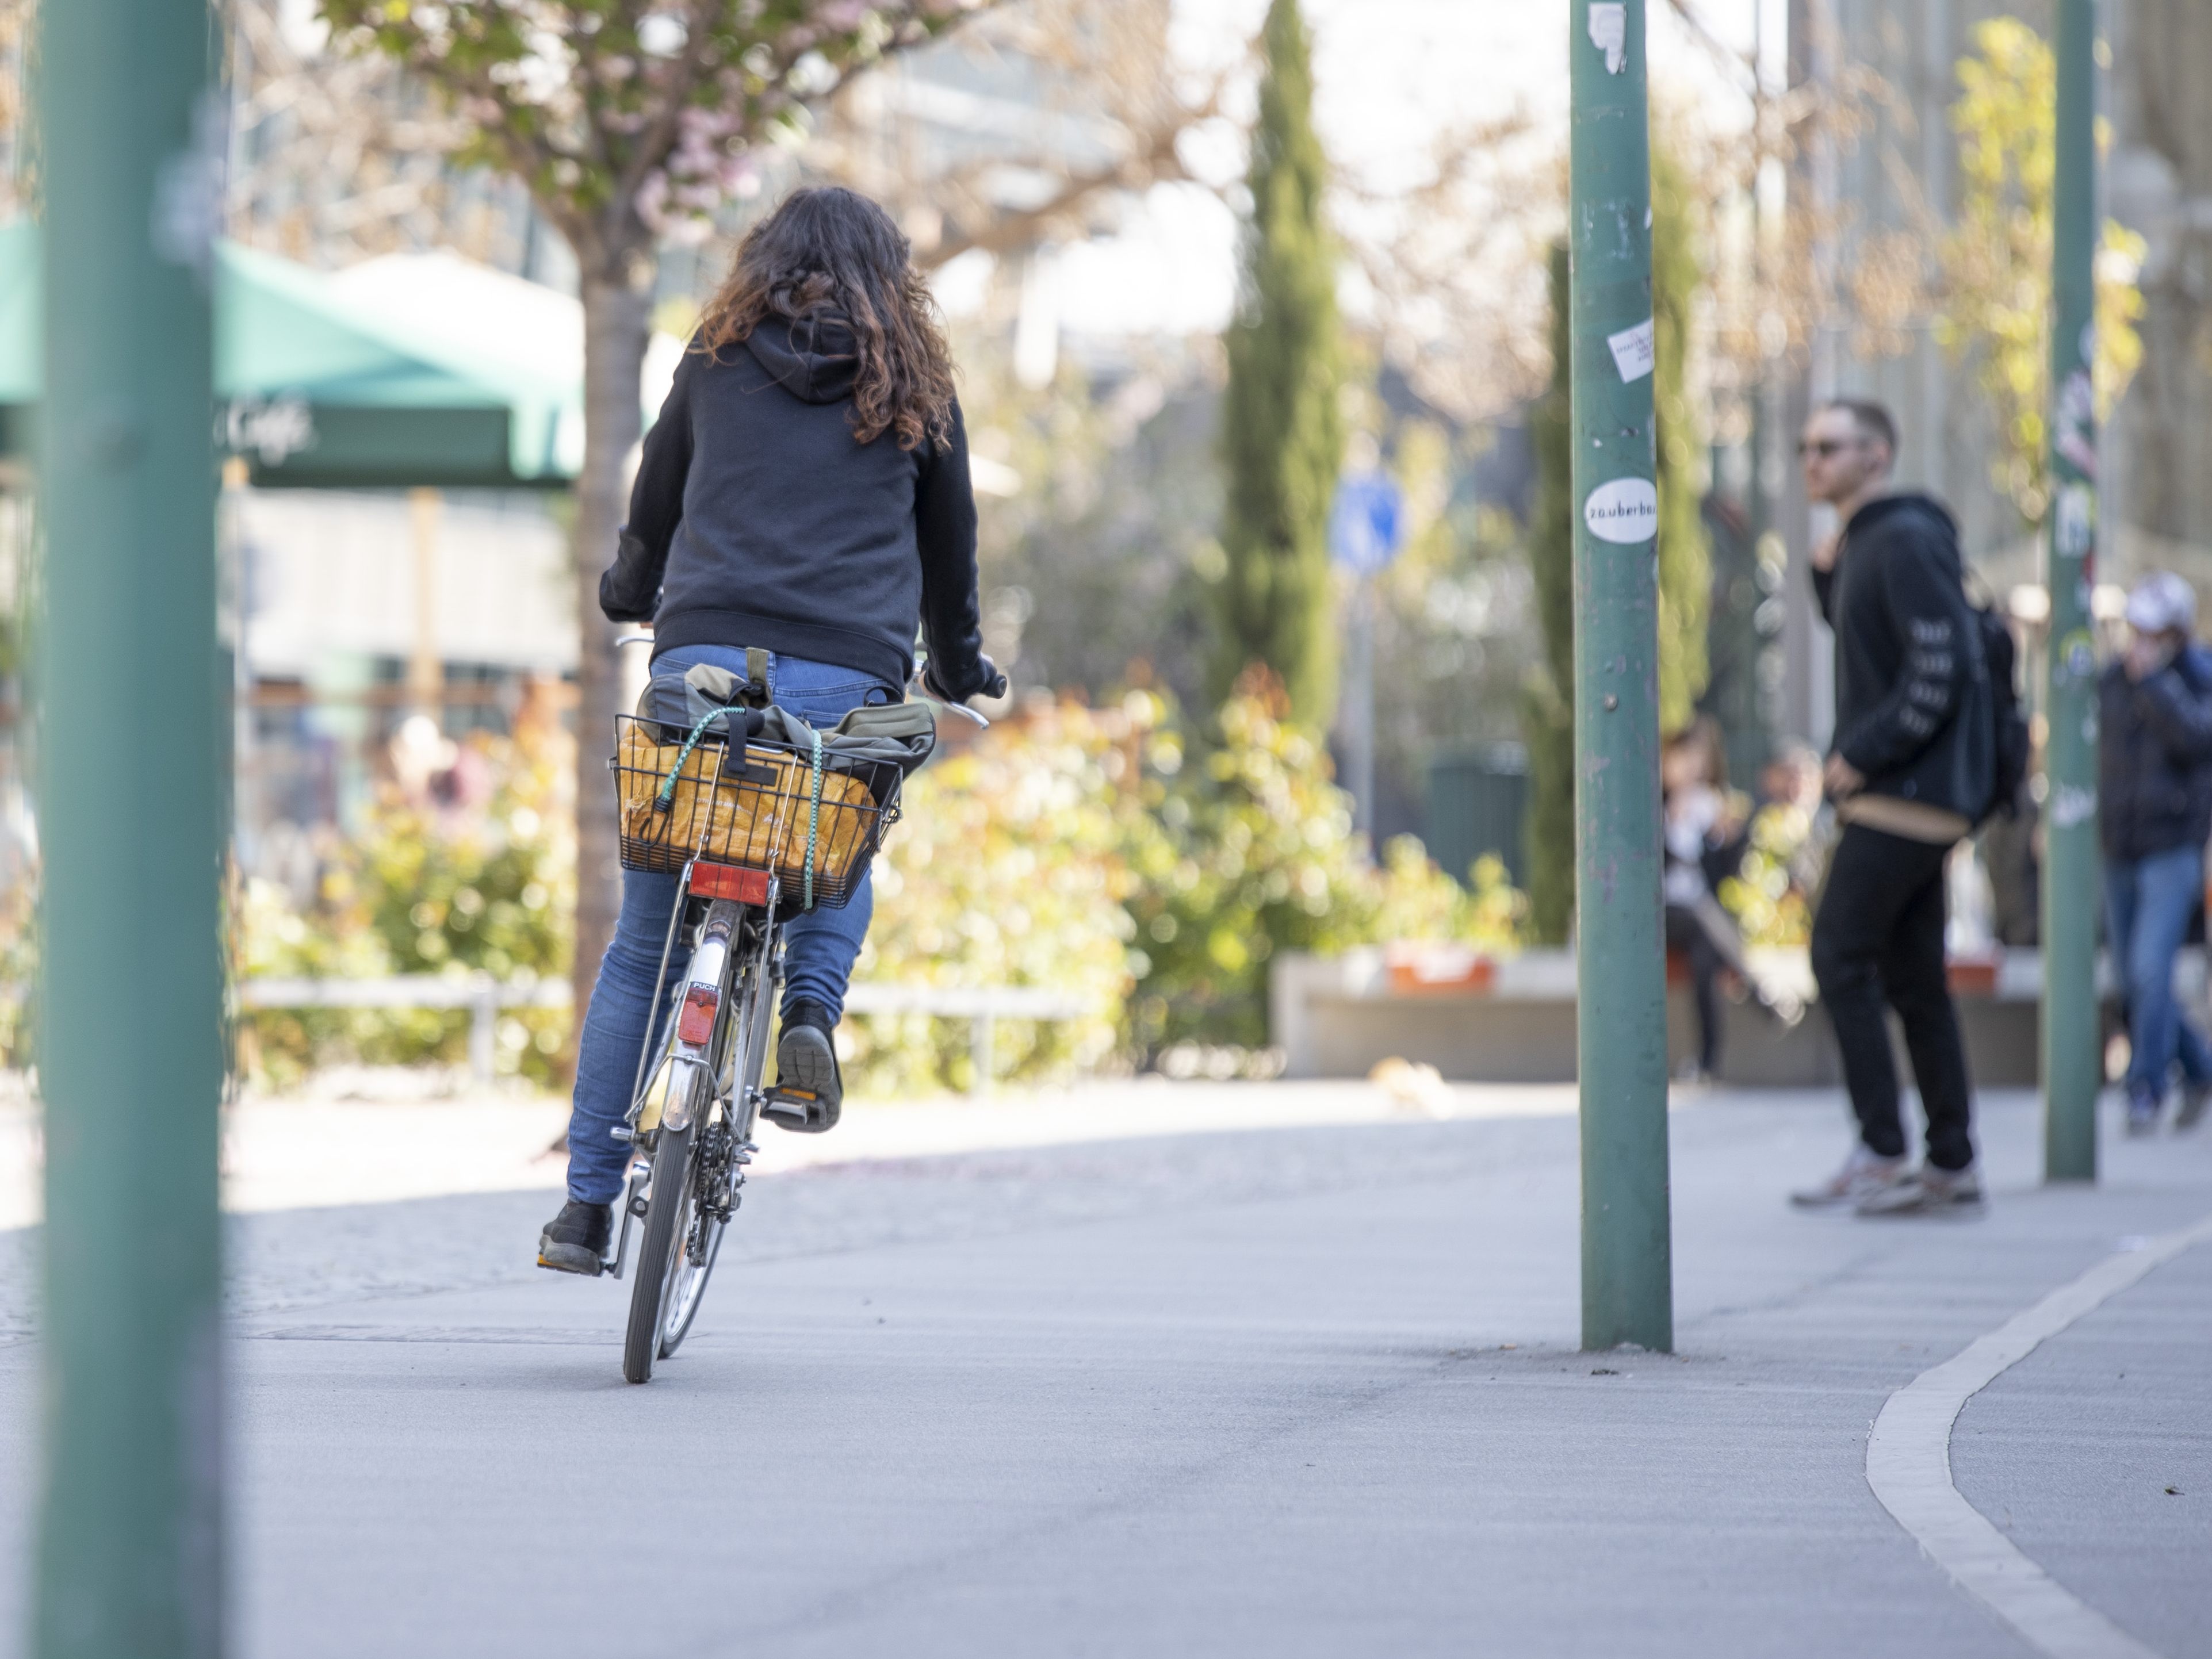
M 1980 823 L 1997 721 L 1951 515 L 1927 495 L 1867 502 L 1814 591 L 1836 630 L 1836 754 L 1867 794 Z

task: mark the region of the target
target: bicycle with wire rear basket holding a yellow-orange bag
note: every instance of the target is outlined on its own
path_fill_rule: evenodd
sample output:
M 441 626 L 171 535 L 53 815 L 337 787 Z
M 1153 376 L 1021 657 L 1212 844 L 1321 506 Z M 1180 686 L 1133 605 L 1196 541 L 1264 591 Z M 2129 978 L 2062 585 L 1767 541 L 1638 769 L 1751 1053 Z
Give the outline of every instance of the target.
M 989 726 L 971 708 L 938 706 Z M 624 867 L 681 867 L 653 991 L 657 1022 L 613 1130 L 633 1159 L 599 1259 L 602 1274 L 622 1279 L 630 1223 L 644 1223 L 622 1343 L 630 1383 L 653 1380 L 690 1334 L 759 1152 L 752 1130 L 774 1097 L 761 1073 L 787 907 L 843 905 L 898 818 L 896 763 L 825 761 L 818 741 L 803 750 L 765 739 L 759 708 L 743 723 L 726 719 L 721 743 L 706 737 L 710 721 L 670 745 L 659 741 L 666 728 L 622 717 L 608 761 L 624 796 Z M 670 748 L 681 750 L 672 765 Z M 670 984 L 679 936 L 690 940 L 690 967 Z

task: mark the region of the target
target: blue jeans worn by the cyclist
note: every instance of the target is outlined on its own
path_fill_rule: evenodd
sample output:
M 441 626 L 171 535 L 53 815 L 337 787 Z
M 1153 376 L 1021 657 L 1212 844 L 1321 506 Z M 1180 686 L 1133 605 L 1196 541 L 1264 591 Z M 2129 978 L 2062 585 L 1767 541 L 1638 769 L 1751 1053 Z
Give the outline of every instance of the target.
M 745 672 L 745 653 L 728 646 L 677 646 L 653 659 L 655 675 L 681 675 L 692 664 L 717 664 L 734 675 Z M 772 701 L 803 717 L 810 726 L 836 726 L 863 703 L 896 703 L 900 692 L 858 668 L 807 661 L 803 657 L 768 659 Z M 630 1110 L 637 1084 L 637 1057 L 648 1037 L 659 1035 L 664 1006 L 653 1006 L 653 982 L 661 967 L 661 942 L 677 905 L 681 876 L 659 876 L 639 869 L 622 872 L 622 916 L 615 938 L 599 958 L 599 978 L 591 989 L 591 1009 L 575 1046 L 575 1104 L 568 1115 L 568 1197 L 580 1203 L 613 1203 L 622 1192 L 624 1148 L 608 1133 Z M 821 1002 L 836 1020 L 845 1013 L 845 984 L 854 958 L 867 938 L 867 918 L 876 907 L 869 878 L 863 876 L 852 898 L 838 909 L 792 911 L 783 922 L 783 1006 Z M 681 980 L 690 967 L 690 949 L 679 938 L 668 953 L 668 982 Z M 648 1031 L 648 1026 L 655 1026 Z

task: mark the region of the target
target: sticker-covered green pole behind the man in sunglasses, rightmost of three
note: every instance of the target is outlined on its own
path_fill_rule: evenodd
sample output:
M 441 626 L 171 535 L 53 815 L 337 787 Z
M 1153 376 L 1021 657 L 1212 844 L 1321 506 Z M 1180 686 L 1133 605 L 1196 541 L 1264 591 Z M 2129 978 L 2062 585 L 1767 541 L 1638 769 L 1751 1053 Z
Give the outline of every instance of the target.
M 2059 0 L 2044 712 L 2044 1179 L 2097 1179 L 2097 7 Z

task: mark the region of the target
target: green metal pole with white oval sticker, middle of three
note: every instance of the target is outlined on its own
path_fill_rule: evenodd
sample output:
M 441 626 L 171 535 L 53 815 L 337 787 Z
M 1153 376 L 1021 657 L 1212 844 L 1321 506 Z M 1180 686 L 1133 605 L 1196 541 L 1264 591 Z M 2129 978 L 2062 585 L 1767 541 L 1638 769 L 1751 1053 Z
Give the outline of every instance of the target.
M 1582 1345 L 1674 1347 L 1659 931 L 1659 493 L 1644 0 L 1573 42 Z

